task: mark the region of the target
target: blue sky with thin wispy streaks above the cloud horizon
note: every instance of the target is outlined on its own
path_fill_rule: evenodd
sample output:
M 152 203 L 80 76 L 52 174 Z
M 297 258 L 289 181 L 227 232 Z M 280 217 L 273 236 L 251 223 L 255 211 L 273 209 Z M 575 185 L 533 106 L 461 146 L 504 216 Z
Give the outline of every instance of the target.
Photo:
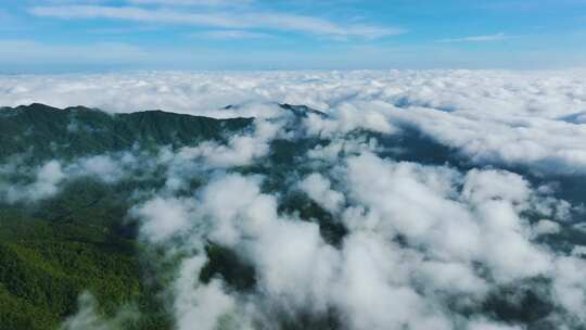
M 586 0 L 2 0 L 0 72 L 586 66 Z

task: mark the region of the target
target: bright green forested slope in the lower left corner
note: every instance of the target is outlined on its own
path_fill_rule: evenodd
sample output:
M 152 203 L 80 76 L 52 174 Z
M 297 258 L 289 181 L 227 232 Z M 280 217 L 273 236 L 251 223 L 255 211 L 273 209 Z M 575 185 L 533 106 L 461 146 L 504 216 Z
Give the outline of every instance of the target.
M 138 329 L 169 321 L 143 281 L 128 205 L 120 193 L 79 180 L 33 210 L 0 210 L 0 323 L 2 329 L 53 329 L 76 312 L 80 293 L 95 296 L 100 313 L 126 305 L 145 317 Z M 146 313 L 144 313 L 146 312 Z

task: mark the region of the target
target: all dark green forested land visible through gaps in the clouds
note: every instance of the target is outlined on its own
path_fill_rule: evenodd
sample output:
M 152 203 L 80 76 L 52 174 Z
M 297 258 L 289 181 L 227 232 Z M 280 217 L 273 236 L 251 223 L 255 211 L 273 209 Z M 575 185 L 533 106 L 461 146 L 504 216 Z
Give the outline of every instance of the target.
M 290 111 L 294 118 L 307 113 L 324 116 L 304 106 L 283 104 L 281 107 Z M 252 124 L 251 118 L 218 120 L 160 111 L 110 115 L 86 107 L 59 110 L 42 104 L 2 109 L 0 165 L 14 157 L 38 164 L 130 149 L 194 145 L 204 140 L 224 142 L 235 132 L 251 129 Z M 290 125 L 296 124 L 293 120 Z M 365 139 L 375 138 L 385 147 L 381 151 L 384 156 L 421 164 L 449 164 L 460 169 L 472 167 L 456 151 L 409 127 L 402 137 L 366 131 L 353 134 Z M 308 173 L 308 167 L 297 156 L 327 142 L 277 139 L 271 142 L 266 162 L 234 170 L 265 175 L 263 189 L 266 191 L 288 191 L 292 180 Z M 510 169 L 521 172 L 536 183 L 555 179 L 563 185 L 562 198 L 575 204 L 586 202 L 584 180 L 544 178 L 522 168 Z M 137 240 L 137 225 L 128 218 L 132 193 L 162 185 L 163 180 L 156 176 L 116 183 L 78 178 L 58 195 L 41 202 L 0 204 L 0 328 L 58 329 L 64 319 L 76 313 L 78 297 L 84 292 L 95 296 L 98 313 L 105 317 L 114 316 L 122 307 L 137 310 L 140 317 L 130 320 L 128 329 L 173 328 L 166 304 L 158 294 L 170 280 L 161 276 L 165 275 L 161 269 L 173 269 L 173 261 L 158 258 L 157 251 L 142 245 Z M 341 244 L 347 233 L 340 223 L 332 220 L 330 213 L 302 193 L 282 194 L 279 211 L 316 221 L 322 237 L 334 246 Z M 535 215 L 535 219 L 538 218 Z M 586 244 L 586 234 L 569 228 L 548 236 L 547 240 L 556 249 L 569 249 L 576 243 Z M 254 268 L 240 261 L 233 251 L 209 242 L 206 253 L 209 263 L 200 275 L 202 282 L 220 276 L 233 290 L 254 289 Z M 149 257 L 143 257 L 145 255 Z M 521 294 L 521 307 L 509 306 L 508 300 L 500 299 L 513 294 L 512 291 Z M 502 288 L 502 292 L 486 302 L 485 310 L 461 313 L 489 312 L 500 319 L 531 323 L 538 322 L 551 308 L 528 289 Z M 295 320 L 285 318 L 282 328 L 340 329 L 340 325 L 332 312 L 319 319 L 304 315 Z

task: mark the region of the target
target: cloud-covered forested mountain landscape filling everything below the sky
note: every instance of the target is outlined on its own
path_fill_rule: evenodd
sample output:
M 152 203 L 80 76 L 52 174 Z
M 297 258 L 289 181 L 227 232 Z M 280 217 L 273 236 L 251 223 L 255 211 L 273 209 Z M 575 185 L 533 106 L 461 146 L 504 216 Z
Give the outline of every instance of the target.
M 579 71 L 0 76 L 0 257 L 30 263 L 39 292 L 85 274 L 59 297 L 73 307 L 22 307 L 64 330 L 583 329 L 585 86 Z M 36 234 L 16 217 L 55 241 L 15 240 Z M 67 262 L 85 244 L 112 268 Z M 11 271 L 0 301 L 58 300 Z

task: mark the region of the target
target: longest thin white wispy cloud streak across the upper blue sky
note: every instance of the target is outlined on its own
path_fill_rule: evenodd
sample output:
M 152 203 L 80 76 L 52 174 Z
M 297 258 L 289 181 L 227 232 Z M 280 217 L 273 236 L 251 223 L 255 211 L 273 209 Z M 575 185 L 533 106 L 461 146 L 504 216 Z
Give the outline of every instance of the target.
M 267 28 L 284 31 L 300 31 L 333 38 L 359 37 L 375 39 L 390 35 L 404 34 L 405 30 L 377 25 L 341 25 L 332 21 L 279 12 L 247 11 L 227 12 L 184 12 L 171 9 L 146 9 L 141 7 L 106 5 L 52 5 L 34 7 L 29 12 L 37 16 L 54 18 L 106 18 L 157 24 L 193 25 L 227 29 Z

